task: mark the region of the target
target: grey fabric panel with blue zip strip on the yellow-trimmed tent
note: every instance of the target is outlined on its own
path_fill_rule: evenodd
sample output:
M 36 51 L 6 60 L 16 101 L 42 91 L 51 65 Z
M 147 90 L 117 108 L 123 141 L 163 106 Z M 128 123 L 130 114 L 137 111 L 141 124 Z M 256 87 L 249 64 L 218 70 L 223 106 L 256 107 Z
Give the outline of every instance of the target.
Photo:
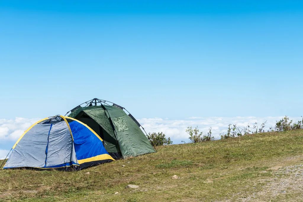
M 52 167 L 77 163 L 72 136 L 65 121 L 40 123 L 18 142 L 5 168 Z

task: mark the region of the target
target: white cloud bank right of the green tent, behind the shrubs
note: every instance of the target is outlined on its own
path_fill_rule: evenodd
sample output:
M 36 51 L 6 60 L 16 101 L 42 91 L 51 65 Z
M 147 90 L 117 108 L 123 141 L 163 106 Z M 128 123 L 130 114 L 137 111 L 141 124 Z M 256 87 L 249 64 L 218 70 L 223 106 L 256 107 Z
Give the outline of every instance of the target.
M 253 127 L 255 122 L 258 126 L 261 123 L 266 122 L 265 129 L 274 127 L 276 121 L 280 120 L 281 117 L 190 117 L 185 120 L 168 120 L 161 118 L 142 118 L 139 119 L 139 123 L 142 124 L 145 131 L 148 132 L 164 132 L 167 137 L 171 137 L 174 143 L 180 143 L 181 140 L 188 142 L 188 134 L 185 130 L 188 126 L 196 127 L 203 133 L 207 133 L 208 129 L 212 127 L 212 135 L 218 139 L 220 133 L 226 133 L 228 124 L 236 124 L 239 127 L 250 125 Z M 294 121 L 302 120 L 301 117 L 290 117 Z

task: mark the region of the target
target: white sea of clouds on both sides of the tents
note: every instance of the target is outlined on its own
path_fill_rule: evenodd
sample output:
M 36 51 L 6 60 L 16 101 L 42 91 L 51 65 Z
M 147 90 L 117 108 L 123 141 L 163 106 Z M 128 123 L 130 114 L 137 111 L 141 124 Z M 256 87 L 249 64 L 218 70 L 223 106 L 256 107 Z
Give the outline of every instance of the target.
M 142 118 L 138 119 L 139 123 L 148 132 L 164 132 L 167 137 L 170 137 L 174 144 L 181 143 L 181 141 L 188 142 L 188 134 L 185 130 L 188 126 L 196 127 L 199 130 L 207 133 L 208 129 L 212 128 L 212 135 L 220 138 L 220 133 L 226 133 L 228 124 L 237 124 L 239 127 L 244 127 L 249 124 L 251 128 L 255 122 L 260 126 L 261 123 L 266 122 L 265 130 L 269 127 L 275 126 L 276 121 L 283 118 L 280 117 L 190 117 L 182 120 L 171 120 L 168 118 Z M 301 117 L 290 117 L 294 121 L 301 120 Z M 8 154 L 8 148 L 11 147 L 15 141 L 22 135 L 22 133 L 30 127 L 39 118 L 15 118 L 15 119 L 0 119 L 0 159 L 3 159 Z M 9 147 L 3 148 L 5 144 L 11 144 Z M 2 146 L 1 146 L 2 145 Z M 2 147 L 2 148 L 1 148 Z

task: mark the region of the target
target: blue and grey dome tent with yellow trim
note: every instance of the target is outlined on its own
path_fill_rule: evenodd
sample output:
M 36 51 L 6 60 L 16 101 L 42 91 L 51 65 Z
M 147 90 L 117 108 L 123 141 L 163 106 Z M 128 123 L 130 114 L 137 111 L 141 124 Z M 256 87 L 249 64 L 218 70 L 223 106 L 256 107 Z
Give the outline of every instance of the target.
M 42 119 L 29 127 L 12 147 L 3 169 L 80 170 L 114 159 L 102 139 L 86 124 L 65 116 Z

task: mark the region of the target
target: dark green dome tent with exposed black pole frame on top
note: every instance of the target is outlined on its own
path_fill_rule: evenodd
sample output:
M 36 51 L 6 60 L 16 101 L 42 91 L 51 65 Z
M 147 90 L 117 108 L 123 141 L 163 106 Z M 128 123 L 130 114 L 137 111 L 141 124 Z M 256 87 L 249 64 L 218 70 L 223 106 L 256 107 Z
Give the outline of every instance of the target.
M 115 159 L 156 152 L 148 141 L 144 128 L 124 110 L 128 112 L 117 104 L 94 98 L 73 108 L 67 114 L 70 112 L 69 117 L 91 127 L 104 140 L 105 149 Z

